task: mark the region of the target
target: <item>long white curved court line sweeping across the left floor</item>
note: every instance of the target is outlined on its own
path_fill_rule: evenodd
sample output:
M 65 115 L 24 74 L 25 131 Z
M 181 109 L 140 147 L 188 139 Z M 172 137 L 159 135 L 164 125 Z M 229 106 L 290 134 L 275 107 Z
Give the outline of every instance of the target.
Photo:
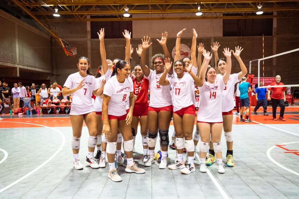
M 5 121 L 1 121 L 1 122 L 5 122 Z M 24 122 L 10 122 L 10 123 L 20 123 L 20 124 L 30 124 L 30 123 L 24 123 Z M 62 137 L 62 143 L 59 147 L 59 149 L 57 149 L 57 151 L 50 157 L 48 158 L 48 160 L 46 160 L 45 162 L 43 162 L 41 165 L 39 165 L 38 167 L 36 167 L 35 169 L 33 169 L 31 172 L 29 172 L 28 174 L 24 175 L 22 178 L 19 178 L 18 180 L 14 181 L 13 183 L 11 183 L 10 185 L 7 185 L 6 187 L 4 187 L 3 189 L 0 190 L 0 193 L 1 192 L 4 192 L 6 189 L 10 188 L 11 186 L 15 185 L 16 183 L 24 180 L 25 178 L 27 178 L 29 175 L 33 174 L 34 172 L 36 172 L 37 170 L 39 170 L 40 168 L 42 168 L 42 166 L 44 166 L 46 163 L 48 163 L 50 160 L 52 160 L 62 149 L 62 147 L 64 146 L 65 144 L 65 136 L 62 134 L 62 132 L 60 132 L 59 130 L 57 129 L 54 129 L 52 127 L 47 127 L 47 126 L 44 126 L 44 125 L 40 125 L 40 124 L 32 124 L 32 125 L 37 125 L 37 126 L 41 126 L 41 127 L 46 127 L 46 128 L 49 128 L 49 129 L 52 129 L 56 132 L 58 132 L 61 137 Z

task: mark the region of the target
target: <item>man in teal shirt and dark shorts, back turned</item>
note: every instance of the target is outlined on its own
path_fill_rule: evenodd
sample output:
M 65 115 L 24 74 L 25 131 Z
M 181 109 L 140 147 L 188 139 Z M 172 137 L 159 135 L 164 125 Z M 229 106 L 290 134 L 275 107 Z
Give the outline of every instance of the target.
M 240 90 L 240 122 L 252 122 L 251 119 L 249 119 L 249 106 L 250 106 L 250 101 L 248 97 L 248 92 L 251 92 L 251 86 L 249 82 L 247 82 L 247 78 L 243 77 L 242 82 L 239 85 L 239 90 Z M 243 109 L 246 107 L 246 120 L 243 119 Z

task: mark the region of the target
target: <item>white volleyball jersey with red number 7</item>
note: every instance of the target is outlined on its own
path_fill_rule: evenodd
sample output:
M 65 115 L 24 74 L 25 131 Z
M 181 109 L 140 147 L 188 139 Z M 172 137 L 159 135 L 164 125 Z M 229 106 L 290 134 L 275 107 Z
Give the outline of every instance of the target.
M 72 94 L 70 115 L 83 115 L 94 112 L 94 106 L 91 101 L 92 92 L 97 90 L 94 76 L 87 75 L 86 77 L 82 77 L 79 72 L 73 73 L 66 79 L 64 87 L 68 87 L 69 89 L 76 88 L 83 79 L 85 81 L 82 84 L 85 84 L 85 86 Z

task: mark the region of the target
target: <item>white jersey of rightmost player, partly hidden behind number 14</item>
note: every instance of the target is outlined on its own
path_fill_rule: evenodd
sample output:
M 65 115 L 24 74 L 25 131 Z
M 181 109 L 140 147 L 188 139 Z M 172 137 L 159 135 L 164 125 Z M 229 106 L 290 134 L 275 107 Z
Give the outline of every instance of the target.
M 222 75 L 217 74 L 217 79 L 223 78 Z M 225 85 L 222 92 L 222 112 L 229 112 L 234 109 L 234 91 L 235 84 L 239 82 L 238 73 L 229 75 L 227 84 Z

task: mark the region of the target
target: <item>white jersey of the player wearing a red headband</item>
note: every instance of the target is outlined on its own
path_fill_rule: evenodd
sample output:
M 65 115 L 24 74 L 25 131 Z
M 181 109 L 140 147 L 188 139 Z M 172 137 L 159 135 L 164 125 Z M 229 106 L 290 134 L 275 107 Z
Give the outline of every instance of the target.
M 162 73 L 157 74 L 153 70 L 150 70 L 149 76 L 147 78 L 149 80 L 149 89 L 150 89 L 150 100 L 149 106 L 154 108 L 161 108 L 172 105 L 170 90 L 171 86 L 161 86 L 159 84 L 159 80 Z M 173 75 L 167 74 L 167 78 Z

